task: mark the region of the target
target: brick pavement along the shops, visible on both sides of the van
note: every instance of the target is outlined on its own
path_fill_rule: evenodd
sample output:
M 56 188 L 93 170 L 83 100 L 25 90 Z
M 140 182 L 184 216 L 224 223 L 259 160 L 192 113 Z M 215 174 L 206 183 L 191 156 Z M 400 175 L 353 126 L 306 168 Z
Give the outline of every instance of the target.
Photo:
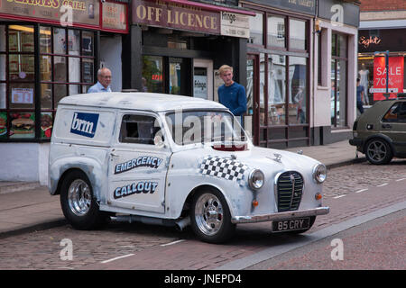
M 318 159 L 328 169 L 365 160 L 355 155 L 348 140 L 320 146 L 287 148 L 291 152 Z M 0 238 L 29 231 L 49 229 L 66 223 L 60 209 L 60 196 L 51 196 L 39 183 L 0 181 Z

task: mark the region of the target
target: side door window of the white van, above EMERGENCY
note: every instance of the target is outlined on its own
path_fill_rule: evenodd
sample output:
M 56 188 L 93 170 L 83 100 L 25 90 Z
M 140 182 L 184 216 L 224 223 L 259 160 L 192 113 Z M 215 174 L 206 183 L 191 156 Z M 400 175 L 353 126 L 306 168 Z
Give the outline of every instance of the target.
M 155 134 L 161 130 L 158 121 L 152 116 L 124 115 L 121 121 L 119 141 L 153 145 Z M 155 127 L 157 126 L 157 127 Z

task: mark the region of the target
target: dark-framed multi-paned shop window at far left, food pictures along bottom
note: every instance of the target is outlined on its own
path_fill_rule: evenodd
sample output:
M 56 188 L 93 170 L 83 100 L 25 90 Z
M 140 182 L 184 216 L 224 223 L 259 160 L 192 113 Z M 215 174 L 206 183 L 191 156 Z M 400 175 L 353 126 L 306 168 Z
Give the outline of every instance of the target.
M 91 31 L 0 25 L 0 139 L 51 138 L 60 99 L 93 85 L 93 40 Z

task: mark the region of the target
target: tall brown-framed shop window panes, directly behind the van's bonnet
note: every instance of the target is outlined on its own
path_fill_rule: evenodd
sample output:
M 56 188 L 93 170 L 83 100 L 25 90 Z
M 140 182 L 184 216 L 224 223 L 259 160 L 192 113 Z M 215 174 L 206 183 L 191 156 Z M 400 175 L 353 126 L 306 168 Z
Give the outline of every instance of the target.
M 258 53 L 250 45 L 247 47 L 252 53 L 247 62 L 247 99 L 254 100 L 248 105 L 248 114 L 254 119 L 254 143 L 270 148 L 286 148 L 298 143 L 307 145 L 309 20 L 266 11 L 258 11 L 258 14 L 266 15 L 263 49 L 268 53 Z M 344 47 L 342 50 L 346 52 Z M 256 61 L 258 71 L 254 69 Z M 254 79 L 259 81 L 256 83 Z

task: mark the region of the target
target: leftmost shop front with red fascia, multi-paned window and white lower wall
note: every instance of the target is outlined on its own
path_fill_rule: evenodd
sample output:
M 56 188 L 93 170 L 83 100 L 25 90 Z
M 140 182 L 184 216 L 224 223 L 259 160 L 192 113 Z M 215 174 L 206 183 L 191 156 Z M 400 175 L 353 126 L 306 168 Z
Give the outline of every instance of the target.
M 58 102 L 97 81 L 100 35 L 128 31 L 127 4 L 0 3 L 0 180 L 46 184 Z

